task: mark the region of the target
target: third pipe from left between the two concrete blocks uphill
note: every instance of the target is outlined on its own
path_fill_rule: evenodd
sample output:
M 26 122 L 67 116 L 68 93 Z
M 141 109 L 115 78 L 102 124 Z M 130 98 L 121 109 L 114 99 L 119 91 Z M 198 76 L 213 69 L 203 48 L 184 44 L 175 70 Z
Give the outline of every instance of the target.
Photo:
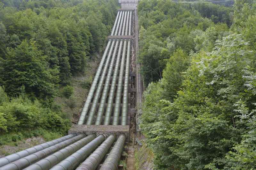
M 111 74 L 112 74 L 112 71 L 113 71 L 113 66 L 115 64 L 114 62 L 115 62 L 115 59 L 116 59 L 116 51 L 117 51 L 118 43 L 119 43 L 119 41 L 116 40 L 116 46 L 115 46 L 115 49 L 114 49 L 114 53 L 112 55 L 111 62 L 109 64 L 107 78 L 106 78 L 106 81 L 105 81 L 103 92 L 101 94 L 100 106 L 99 106 L 99 109 L 98 109 L 95 125 L 100 125 L 101 121 L 102 121 L 102 115 L 104 113 L 104 107 L 105 107 L 106 99 L 107 99 L 107 96 L 108 96 L 109 82 L 110 82 Z

